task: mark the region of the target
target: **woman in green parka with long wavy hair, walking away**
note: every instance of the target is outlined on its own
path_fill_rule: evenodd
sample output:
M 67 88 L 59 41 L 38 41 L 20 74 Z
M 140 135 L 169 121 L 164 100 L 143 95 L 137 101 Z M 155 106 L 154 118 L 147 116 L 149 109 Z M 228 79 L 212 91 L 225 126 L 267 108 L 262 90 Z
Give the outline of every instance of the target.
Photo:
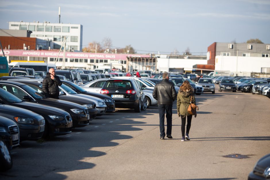
M 192 115 L 188 113 L 188 106 L 190 105 L 191 96 L 192 96 L 191 102 L 193 104 L 196 104 L 194 90 L 190 86 L 189 82 L 186 80 L 180 86 L 180 89 L 177 95 L 177 114 L 179 117 L 181 116 L 181 120 L 182 120 L 182 125 L 181 125 L 182 140 L 181 141 L 185 141 L 185 138 L 186 140 L 190 140 L 188 133 L 191 126 Z M 186 117 L 188 119 L 188 123 L 187 123 L 186 136 L 185 136 Z

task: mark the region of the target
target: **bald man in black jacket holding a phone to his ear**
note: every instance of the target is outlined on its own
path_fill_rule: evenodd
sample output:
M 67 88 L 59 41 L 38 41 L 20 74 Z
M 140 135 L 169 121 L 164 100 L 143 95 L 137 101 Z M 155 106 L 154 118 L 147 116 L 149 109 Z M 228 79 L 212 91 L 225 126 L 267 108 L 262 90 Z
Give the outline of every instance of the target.
M 59 99 L 59 87 L 62 82 L 58 76 L 55 75 L 55 69 L 49 69 L 49 73 L 43 79 L 42 90 L 46 97 Z

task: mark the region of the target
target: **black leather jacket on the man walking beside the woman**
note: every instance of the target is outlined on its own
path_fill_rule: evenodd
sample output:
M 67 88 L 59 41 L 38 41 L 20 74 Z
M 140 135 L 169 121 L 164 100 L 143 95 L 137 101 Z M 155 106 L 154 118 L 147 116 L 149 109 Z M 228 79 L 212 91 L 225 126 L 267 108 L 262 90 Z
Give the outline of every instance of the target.
M 153 97 L 158 101 L 158 104 L 173 104 L 176 98 L 176 91 L 172 82 L 167 79 L 162 79 L 155 85 Z

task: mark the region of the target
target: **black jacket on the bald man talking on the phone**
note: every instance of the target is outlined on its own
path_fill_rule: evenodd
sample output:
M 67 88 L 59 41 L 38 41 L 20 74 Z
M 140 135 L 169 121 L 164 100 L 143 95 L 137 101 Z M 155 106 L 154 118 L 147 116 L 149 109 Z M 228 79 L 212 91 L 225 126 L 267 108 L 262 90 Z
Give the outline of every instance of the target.
M 58 95 L 59 96 L 59 87 L 62 82 L 58 76 L 55 76 L 55 80 L 51 79 L 51 75 L 47 73 L 47 76 L 44 78 L 42 82 L 42 90 L 46 97 L 50 97 L 50 95 Z

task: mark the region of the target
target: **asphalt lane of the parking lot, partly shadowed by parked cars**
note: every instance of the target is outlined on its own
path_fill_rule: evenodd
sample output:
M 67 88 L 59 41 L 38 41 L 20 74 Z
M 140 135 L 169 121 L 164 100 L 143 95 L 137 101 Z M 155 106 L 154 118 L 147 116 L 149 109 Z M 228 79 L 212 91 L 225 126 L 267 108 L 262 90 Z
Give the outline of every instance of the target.
M 173 105 L 173 139 L 160 140 L 158 107 L 117 108 L 51 139 L 23 141 L 1 179 L 247 179 L 270 153 L 270 99 L 241 92 L 196 96 L 190 141 L 181 142 Z M 243 157 L 243 158 L 239 158 Z

